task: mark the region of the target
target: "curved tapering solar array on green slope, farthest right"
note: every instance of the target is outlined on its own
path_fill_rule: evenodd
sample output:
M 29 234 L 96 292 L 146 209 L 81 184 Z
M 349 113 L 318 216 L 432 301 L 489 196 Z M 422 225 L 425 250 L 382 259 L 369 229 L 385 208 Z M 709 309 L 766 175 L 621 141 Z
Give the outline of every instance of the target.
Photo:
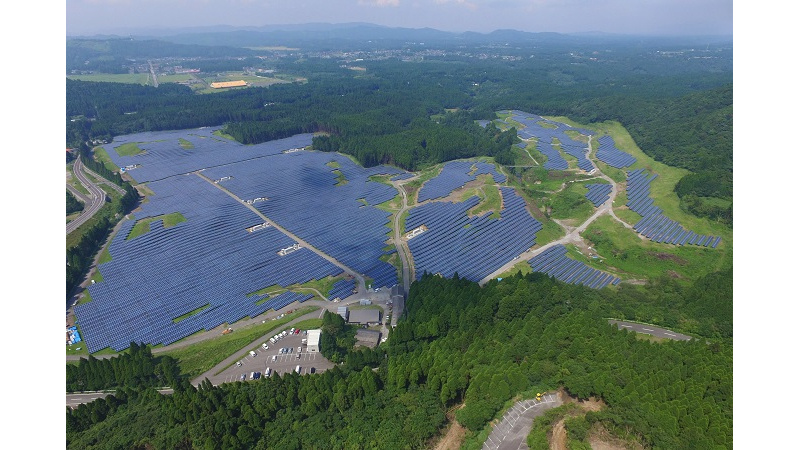
M 633 229 L 653 242 L 703 247 L 710 245 L 711 248 L 716 248 L 722 240 L 720 236 L 706 236 L 687 231 L 678 222 L 662 214 L 662 209 L 656 206 L 650 197 L 650 183 L 657 176 L 657 174 L 648 176 L 644 169 L 628 171 L 626 206 L 642 216 Z

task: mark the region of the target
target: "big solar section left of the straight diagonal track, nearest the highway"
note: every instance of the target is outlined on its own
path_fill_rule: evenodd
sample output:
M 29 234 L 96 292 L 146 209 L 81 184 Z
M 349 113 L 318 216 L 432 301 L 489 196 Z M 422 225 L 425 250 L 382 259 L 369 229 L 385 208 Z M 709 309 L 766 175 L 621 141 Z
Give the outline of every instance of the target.
M 131 341 L 168 345 L 311 297 L 248 296 L 266 286 L 342 272 L 308 249 L 279 256 L 294 241 L 274 227 L 248 233 L 262 219 L 200 177 L 170 177 L 148 186 L 155 195 L 137 218 L 179 212 L 186 221 L 164 228 L 156 220 L 132 239 L 126 238 L 135 221 L 122 223 L 109 246 L 111 261 L 99 266 L 103 281 L 88 287 L 92 301 L 75 307 L 90 352 L 124 350 Z

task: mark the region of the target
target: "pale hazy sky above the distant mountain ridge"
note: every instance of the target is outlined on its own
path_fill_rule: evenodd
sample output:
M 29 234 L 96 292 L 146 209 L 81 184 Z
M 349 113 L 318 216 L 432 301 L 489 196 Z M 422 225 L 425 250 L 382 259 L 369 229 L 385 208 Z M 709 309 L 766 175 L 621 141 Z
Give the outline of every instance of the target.
M 69 36 L 349 22 L 482 33 L 732 35 L 733 0 L 67 0 L 66 18 Z

